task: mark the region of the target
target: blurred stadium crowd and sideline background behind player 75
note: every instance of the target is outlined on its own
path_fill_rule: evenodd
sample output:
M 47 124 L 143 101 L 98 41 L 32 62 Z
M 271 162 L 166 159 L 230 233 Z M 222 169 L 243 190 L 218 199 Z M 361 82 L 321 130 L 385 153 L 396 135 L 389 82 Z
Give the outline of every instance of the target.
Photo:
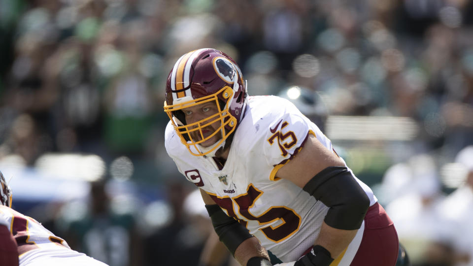
M 415 265 L 473 266 L 469 0 L 1 0 L 0 166 L 101 161 L 82 200 L 32 215 L 110 266 L 197 265 L 208 228 L 184 207 L 193 187 L 165 152 L 162 106 L 176 59 L 203 47 L 236 60 L 250 95 L 297 85 L 328 121 L 414 121 L 409 140 L 332 140 Z

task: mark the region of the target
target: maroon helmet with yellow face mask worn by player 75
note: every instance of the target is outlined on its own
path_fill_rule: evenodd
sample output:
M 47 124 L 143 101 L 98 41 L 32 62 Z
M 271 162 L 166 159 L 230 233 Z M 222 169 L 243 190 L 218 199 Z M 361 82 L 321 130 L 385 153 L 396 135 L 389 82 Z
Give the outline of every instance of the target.
M 235 61 L 219 50 L 199 49 L 177 60 L 169 72 L 164 110 L 191 154 L 213 156 L 225 145 L 225 140 L 243 118 L 247 101 L 245 83 Z M 217 114 L 192 124 L 186 123 L 183 108 L 212 101 L 218 107 Z M 203 128 L 218 121 L 220 127 L 211 135 L 204 136 Z M 193 138 L 196 133 L 199 137 Z M 218 133 L 222 138 L 210 147 L 198 145 Z

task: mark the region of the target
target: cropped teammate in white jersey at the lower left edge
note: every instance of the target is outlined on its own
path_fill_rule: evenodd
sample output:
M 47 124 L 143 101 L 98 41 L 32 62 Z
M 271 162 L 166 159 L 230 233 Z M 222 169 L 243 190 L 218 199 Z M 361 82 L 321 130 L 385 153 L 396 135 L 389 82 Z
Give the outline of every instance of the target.
M 64 239 L 51 233 L 33 218 L 13 210 L 11 190 L 1 171 L 0 185 L 0 221 L 7 225 L 10 235 L 16 240 L 16 256 L 20 266 L 107 266 L 70 249 Z

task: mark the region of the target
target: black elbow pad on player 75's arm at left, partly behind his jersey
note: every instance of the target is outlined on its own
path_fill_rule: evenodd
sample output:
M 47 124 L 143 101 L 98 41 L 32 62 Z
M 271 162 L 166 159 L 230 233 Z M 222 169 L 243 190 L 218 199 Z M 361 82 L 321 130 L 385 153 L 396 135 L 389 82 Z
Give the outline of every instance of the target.
M 215 233 L 217 233 L 220 241 L 225 244 L 227 249 L 235 257 L 236 248 L 244 240 L 253 235 L 248 232 L 248 229 L 238 223 L 238 221 L 223 212 L 218 205 L 205 205 L 205 208 L 210 216 L 210 220 L 212 220 Z

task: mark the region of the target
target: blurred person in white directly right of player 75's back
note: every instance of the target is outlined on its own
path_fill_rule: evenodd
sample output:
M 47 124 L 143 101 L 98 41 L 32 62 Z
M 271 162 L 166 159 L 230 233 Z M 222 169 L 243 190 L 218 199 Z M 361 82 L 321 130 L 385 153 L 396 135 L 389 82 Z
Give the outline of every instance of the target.
M 439 211 L 445 196 L 438 176 L 434 158 L 419 154 L 390 167 L 383 177 L 394 198 L 385 203 L 386 211 L 414 266 L 449 266 L 453 259 L 451 226 Z

